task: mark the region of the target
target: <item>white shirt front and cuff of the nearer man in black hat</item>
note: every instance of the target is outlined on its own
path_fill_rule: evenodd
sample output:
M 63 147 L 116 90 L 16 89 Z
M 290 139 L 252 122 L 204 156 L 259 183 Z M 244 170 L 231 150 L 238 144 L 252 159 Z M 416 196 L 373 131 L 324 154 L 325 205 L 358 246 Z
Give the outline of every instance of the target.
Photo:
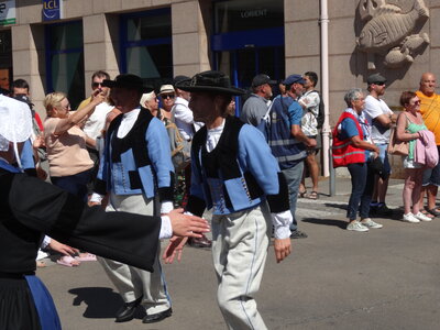
M 207 151 L 210 153 L 213 151 L 219 143 L 221 133 L 223 133 L 224 129 L 224 119 L 222 123 L 215 128 L 208 130 L 207 134 L 207 143 L 206 147 Z M 293 222 L 293 217 L 290 210 L 279 212 L 279 213 L 271 213 L 272 217 L 272 223 L 274 224 L 274 234 L 276 239 L 287 239 L 290 237 L 290 229 L 289 226 Z

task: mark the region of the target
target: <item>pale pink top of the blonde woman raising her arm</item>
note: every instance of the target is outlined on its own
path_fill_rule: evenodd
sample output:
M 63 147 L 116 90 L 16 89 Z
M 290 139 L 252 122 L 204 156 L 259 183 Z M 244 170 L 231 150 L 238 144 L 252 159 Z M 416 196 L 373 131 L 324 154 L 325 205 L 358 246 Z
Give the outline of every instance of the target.
M 86 148 L 86 134 L 78 127 L 70 128 L 61 135 L 54 135 L 63 119 L 46 118 L 44 121 L 44 140 L 51 176 L 68 176 L 94 167 Z

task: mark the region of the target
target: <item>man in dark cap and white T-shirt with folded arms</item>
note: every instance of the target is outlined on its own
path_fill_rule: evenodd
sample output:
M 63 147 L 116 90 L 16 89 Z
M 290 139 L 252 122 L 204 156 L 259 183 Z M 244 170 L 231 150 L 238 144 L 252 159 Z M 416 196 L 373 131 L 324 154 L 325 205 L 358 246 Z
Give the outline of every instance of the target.
M 386 78 L 381 74 L 373 74 L 366 78 L 370 95 L 365 98 L 364 113 L 371 127 L 372 142 L 380 148 L 380 158 L 384 164 L 384 172 L 381 176 L 375 176 L 370 213 L 377 216 L 392 216 L 393 210 L 385 204 L 386 191 L 391 166 L 388 161 L 387 147 L 389 142 L 389 129 L 396 123 L 397 116 L 389 109 L 381 97 L 385 94 Z M 381 226 L 381 224 L 378 224 Z

